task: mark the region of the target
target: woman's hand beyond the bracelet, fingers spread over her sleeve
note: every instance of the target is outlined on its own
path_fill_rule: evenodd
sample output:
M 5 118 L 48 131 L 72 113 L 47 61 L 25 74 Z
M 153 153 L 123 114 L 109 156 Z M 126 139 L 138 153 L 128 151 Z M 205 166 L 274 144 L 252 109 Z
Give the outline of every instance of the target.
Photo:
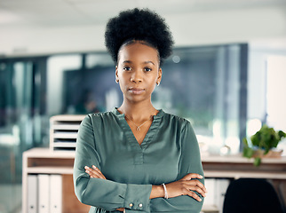
M 196 201 L 202 201 L 202 199 L 195 193 L 201 193 L 203 197 L 206 196 L 205 193 L 207 193 L 207 190 L 198 180 L 202 178 L 203 176 L 199 174 L 189 173 L 178 181 L 166 184 L 165 186 L 167 189 L 168 198 L 178 197 L 180 195 L 188 195 L 195 198 Z

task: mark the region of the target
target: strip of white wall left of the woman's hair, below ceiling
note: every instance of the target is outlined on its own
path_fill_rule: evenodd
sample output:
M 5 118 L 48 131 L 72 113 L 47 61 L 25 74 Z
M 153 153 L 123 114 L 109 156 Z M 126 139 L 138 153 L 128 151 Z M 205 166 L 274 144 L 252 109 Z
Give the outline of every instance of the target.
M 10 28 L 1 31 L 0 55 L 105 50 L 103 26 Z

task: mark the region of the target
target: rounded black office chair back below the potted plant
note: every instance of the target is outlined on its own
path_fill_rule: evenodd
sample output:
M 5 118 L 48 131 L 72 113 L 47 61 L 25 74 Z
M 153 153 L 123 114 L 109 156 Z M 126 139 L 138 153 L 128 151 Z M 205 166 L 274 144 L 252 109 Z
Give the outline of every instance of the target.
M 273 185 L 265 179 L 240 178 L 226 190 L 223 213 L 283 213 Z

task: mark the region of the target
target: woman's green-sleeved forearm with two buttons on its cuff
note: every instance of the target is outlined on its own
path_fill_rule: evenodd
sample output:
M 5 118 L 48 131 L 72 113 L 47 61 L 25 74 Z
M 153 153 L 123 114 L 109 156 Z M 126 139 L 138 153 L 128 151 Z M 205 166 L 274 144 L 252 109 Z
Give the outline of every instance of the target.
M 119 208 L 148 211 L 152 185 L 121 184 L 83 175 L 79 177 L 75 172 L 75 194 L 84 204 L 107 211 Z

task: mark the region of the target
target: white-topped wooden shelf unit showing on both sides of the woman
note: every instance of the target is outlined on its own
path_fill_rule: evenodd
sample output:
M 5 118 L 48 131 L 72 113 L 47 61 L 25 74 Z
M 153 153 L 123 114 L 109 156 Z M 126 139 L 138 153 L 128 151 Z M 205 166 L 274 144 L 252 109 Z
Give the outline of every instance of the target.
M 60 174 L 63 178 L 62 197 L 63 213 L 88 212 L 89 207 L 77 201 L 73 189 L 73 165 L 75 151 L 52 151 L 49 148 L 33 148 L 23 153 L 22 174 L 22 212 L 28 212 L 28 175 L 30 174 Z M 240 155 L 232 156 L 203 156 L 203 170 L 205 177 L 259 177 L 274 179 L 275 188 L 286 192 L 282 183 L 286 179 L 286 158 L 263 159 L 256 168 L 253 160 L 242 158 Z M 278 182 L 277 182 L 278 181 Z M 286 184 L 285 184 L 286 186 Z M 286 194 L 286 193 L 285 193 Z M 72 203 L 73 206 L 65 205 Z M 71 208 L 72 207 L 72 208 Z M 205 208 L 206 212 L 214 212 Z

